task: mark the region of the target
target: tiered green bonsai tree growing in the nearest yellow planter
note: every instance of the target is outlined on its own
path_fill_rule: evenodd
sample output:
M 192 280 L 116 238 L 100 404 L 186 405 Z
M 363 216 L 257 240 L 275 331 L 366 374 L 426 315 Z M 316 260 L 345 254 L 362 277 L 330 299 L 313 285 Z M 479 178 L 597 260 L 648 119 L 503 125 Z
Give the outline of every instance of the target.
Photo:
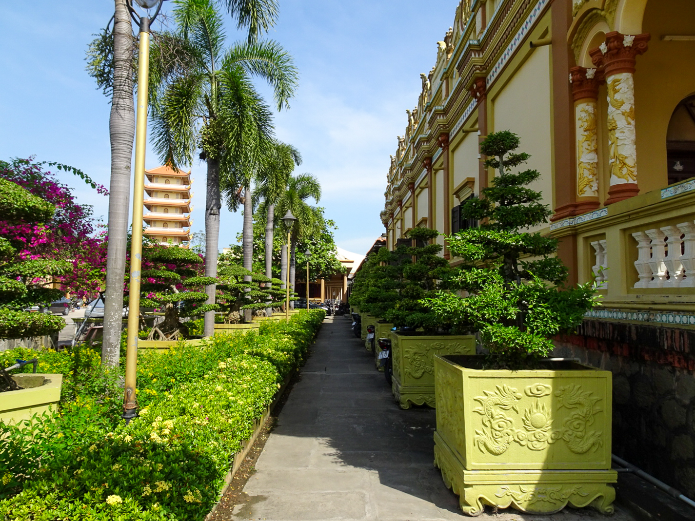
M 498 171 L 491 187 L 481 190 L 461 208 L 464 217 L 482 222 L 448 238 L 452 254 L 464 263 L 450 288 L 426 299 L 426 305 L 459 331 L 480 331 L 488 349 L 489 367 L 532 367 L 553 350 L 550 337 L 580 324 L 594 306 L 594 290 L 587 283 L 565 288 L 566 267 L 555 257 L 557 240 L 525 231 L 548 222 L 548 206 L 541 193 L 528 188 L 539 172 L 510 169 L 530 156 L 516 153 L 516 134 L 492 133 L 480 144 L 487 167 Z

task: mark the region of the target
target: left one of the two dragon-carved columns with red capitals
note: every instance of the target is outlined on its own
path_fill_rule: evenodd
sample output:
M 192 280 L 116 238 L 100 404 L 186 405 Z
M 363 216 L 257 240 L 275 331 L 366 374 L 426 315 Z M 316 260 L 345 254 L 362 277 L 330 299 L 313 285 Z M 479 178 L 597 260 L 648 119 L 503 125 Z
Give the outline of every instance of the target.
M 570 69 L 574 101 L 575 140 L 577 143 L 576 203 L 571 215 L 596 210 L 598 200 L 598 126 L 596 110 L 598 87 L 603 83 L 599 69 L 572 67 Z M 560 213 L 556 210 L 557 213 Z

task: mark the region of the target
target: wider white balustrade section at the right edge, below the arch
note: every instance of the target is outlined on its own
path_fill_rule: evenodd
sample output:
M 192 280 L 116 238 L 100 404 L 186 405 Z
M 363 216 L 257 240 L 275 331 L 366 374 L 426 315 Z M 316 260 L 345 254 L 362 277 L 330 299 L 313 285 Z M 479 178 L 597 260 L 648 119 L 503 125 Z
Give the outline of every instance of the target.
M 638 231 L 632 237 L 637 240 L 635 288 L 695 288 L 695 222 Z

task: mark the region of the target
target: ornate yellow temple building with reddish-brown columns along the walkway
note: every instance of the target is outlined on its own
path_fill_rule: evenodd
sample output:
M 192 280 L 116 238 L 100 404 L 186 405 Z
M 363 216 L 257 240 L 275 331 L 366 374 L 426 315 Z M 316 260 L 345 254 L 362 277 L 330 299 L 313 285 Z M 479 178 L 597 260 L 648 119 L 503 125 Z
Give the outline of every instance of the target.
M 480 142 L 516 133 L 554 210 L 532 231 L 603 297 L 556 356 L 613 372 L 615 454 L 695 496 L 695 1 L 444 3 L 387 173 L 387 247 L 427 226 L 460 263 L 445 235 L 475 226 L 460 205 L 495 175 Z

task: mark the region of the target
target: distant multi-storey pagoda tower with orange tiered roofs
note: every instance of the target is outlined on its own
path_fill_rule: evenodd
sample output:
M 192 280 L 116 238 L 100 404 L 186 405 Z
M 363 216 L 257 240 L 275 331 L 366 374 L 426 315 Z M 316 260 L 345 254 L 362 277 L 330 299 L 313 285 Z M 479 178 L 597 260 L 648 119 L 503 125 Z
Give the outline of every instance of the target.
M 167 166 L 145 170 L 145 235 L 161 244 L 181 245 L 190 240 L 190 171 Z

